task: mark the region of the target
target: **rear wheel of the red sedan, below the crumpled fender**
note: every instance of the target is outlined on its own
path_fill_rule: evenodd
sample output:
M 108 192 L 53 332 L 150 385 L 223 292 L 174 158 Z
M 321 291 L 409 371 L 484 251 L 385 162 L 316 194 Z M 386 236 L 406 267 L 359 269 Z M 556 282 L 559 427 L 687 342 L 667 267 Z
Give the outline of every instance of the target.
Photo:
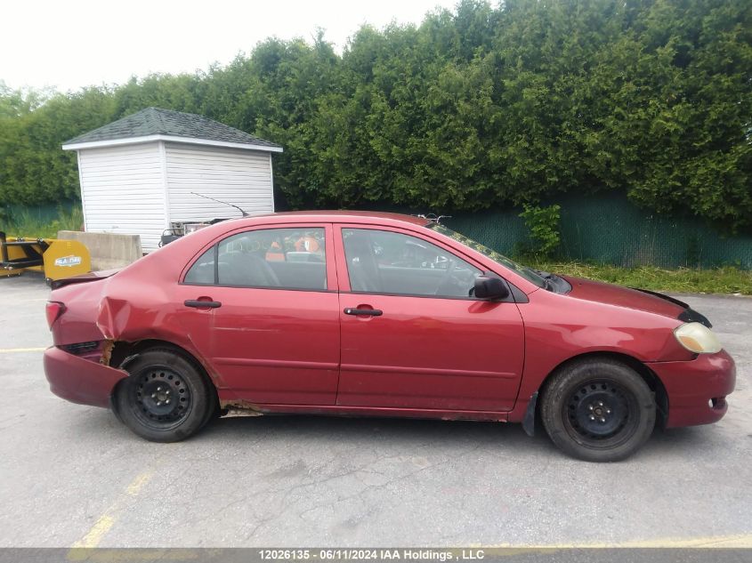
M 144 350 L 130 361 L 114 404 L 130 430 L 153 442 L 177 442 L 201 430 L 216 412 L 212 383 L 174 350 Z

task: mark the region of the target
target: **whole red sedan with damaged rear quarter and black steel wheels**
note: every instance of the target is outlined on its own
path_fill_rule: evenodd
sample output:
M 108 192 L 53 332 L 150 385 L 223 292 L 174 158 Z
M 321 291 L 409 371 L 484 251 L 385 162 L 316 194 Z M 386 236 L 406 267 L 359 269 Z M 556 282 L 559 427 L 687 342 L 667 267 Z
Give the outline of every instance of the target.
M 53 393 L 139 436 L 306 413 L 542 423 L 588 461 L 716 422 L 735 368 L 666 295 L 535 271 L 424 219 L 276 213 L 57 282 Z

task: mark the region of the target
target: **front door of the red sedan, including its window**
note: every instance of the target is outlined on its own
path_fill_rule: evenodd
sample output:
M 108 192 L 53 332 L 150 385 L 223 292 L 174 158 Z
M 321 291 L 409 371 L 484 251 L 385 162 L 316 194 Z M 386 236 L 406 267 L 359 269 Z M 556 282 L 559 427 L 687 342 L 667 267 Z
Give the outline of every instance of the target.
M 336 226 L 337 405 L 513 408 L 524 332 L 513 301 L 469 295 L 479 265 L 416 232 Z

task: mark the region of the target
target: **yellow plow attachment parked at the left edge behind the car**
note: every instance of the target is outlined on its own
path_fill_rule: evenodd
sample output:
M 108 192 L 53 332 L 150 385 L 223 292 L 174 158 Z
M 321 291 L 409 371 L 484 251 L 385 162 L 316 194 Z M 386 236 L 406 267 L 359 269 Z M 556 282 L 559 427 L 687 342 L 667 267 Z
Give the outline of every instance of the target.
M 92 269 L 88 249 L 77 240 L 5 237 L 0 231 L 0 253 L 0 277 L 35 270 L 44 272 L 47 279 L 61 279 Z

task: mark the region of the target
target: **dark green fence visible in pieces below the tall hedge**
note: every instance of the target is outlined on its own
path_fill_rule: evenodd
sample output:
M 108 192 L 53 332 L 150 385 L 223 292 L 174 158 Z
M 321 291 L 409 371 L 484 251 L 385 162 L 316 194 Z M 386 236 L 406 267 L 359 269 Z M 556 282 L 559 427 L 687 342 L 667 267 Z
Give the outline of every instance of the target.
M 646 213 L 621 194 L 568 196 L 550 203 L 562 205 L 562 258 L 619 266 L 712 268 L 736 265 L 752 269 L 752 236 L 722 237 L 691 217 L 671 218 Z M 51 222 L 61 209 L 69 212 L 73 205 L 72 202 L 40 207 L 11 205 L 4 209 L 11 222 L 14 216 Z M 436 211 L 385 205 L 372 205 L 370 209 L 401 213 Z M 447 227 L 501 253 L 515 254 L 529 242 L 525 224 L 518 216 L 519 209 L 447 213 L 452 215 L 442 221 Z M 3 222 L 8 221 L 0 221 L 0 227 L 4 226 Z

